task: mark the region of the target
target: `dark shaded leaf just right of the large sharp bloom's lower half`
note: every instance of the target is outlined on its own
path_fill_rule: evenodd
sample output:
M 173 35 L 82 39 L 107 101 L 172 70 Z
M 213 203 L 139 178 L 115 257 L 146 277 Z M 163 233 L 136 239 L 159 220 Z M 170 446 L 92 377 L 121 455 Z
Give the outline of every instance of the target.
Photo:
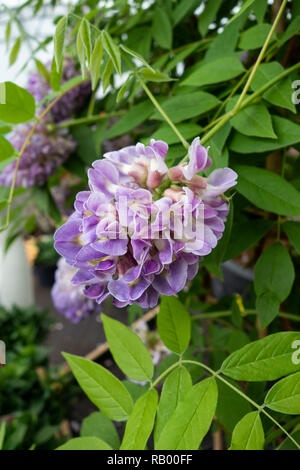
M 265 219 L 252 219 L 247 222 L 234 222 L 230 240 L 223 261 L 233 259 L 243 251 L 256 245 L 271 229 L 273 222 Z

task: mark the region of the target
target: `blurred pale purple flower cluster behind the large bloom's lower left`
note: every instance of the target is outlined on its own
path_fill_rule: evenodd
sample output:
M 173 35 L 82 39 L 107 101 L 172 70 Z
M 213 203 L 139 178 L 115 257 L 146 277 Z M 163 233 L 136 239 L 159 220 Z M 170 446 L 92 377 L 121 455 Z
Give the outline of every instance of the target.
M 75 273 L 76 268 L 67 264 L 64 258 L 60 258 L 51 290 L 55 308 L 72 323 L 78 323 L 92 313 L 100 313 L 99 305 L 85 296 L 84 287 L 71 284 Z

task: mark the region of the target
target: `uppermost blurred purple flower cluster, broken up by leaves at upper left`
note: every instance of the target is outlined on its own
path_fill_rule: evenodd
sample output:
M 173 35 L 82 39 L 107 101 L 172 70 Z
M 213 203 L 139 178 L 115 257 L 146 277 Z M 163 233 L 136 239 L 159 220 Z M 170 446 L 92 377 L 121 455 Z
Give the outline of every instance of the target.
M 51 62 L 46 65 L 46 68 L 50 71 Z M 75 62 L 70 57 L 67 58 L 64 62 L 61 83 L 67 82 L 78 75 L 80 75 L 80 71 L 77 70 Z M 38 72 L 30 75 L 27 90 L 36 102 L 42 101 L 52 91 L 49 83 Z M 90 97 L 91 92 L 91 82 L 87 81 L 66 93 L 51 109 L 53 121 L 55 123 L 63 121 L 80 111 Z

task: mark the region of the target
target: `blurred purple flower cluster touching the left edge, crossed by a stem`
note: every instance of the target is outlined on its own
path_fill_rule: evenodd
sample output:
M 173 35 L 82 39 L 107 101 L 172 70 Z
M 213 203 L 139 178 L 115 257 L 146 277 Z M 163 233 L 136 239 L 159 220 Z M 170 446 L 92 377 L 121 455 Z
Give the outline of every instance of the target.
M 21 150 L 33 123 L 19 124 L 8 136 L 16 150 Z M 48 133 L 46 127 L 39 124 L 32 135 L 20 159 L 16 187 L 41 186 L 47 178 L 56 172 L 69 155 L 74 152 L 77 143 L 65 132 Z M 7 165 L 0 174 L 0 184 L 11 186 L 16 160 Z

